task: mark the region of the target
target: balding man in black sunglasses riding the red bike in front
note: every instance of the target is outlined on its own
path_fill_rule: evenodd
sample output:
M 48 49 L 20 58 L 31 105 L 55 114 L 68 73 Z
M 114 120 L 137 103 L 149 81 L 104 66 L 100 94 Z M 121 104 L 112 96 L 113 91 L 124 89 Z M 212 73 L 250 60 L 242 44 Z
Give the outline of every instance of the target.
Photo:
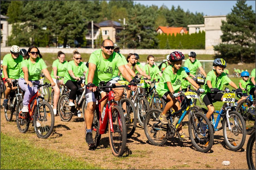
M 119 54 L 114 52 L 114 43 L 110 39 L 106 39 L 102 42 L 101 49 L 94 51 L 89 58 L 89 68 L 86 73 L 86 102 L 87 109 L 85 111 L 85 123 L 86 123 L 86 143 L 88 145 L 93 145 L 94 141 L 92 140 L 92 120 L 94 117 L 94 110 L 96 107 L 96 101 L 98 96 L 98 91 L 96 91 L 96 86 L 99 86 L 101 81 L 105 82 L 106 86 L 111 86 L 115 83 L 117 86 L 120 86 L 115 80 L 111 80 L 115 67 L 118 67 L 124 78 L 126 78 L 131 85 L 131 90 L 135 91 L 137 89 L 137 84 L 135 80 L 132 79 L 131 75 L 125 68 L 125 64 L 120 59 Z M 108 89 L 107 89 L 108 90 Z M 115 92 L 115 101 L 120 101 L 123 96 L 123 88 L 113 88 Z M 106 93 L 101 93 L 101 96 L 104 97 Z M 101 110 L 103 110 L 104 105 L 107 103 L 107 100 L 101 103 Z

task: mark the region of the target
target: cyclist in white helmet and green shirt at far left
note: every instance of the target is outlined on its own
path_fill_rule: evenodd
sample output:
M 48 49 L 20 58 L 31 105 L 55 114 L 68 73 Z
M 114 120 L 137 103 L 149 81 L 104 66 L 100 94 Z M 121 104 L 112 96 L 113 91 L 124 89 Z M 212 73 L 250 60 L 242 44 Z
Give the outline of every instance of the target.
M 3 107 L 7 106 L 8 96 L 11 90 L 16 89 L 13 87 L 12 79 L 17 79 L 20 77 L 20 64 L 22 62 L 22 56 L 19 55 L 20 47 L 17 45 L 11 46 L 10 53 L 6 54 L 3 58 L 3 83 L 5 84 L 5 99 L 3 101 Z M 7 80 L 7 81 L 5 81 Z

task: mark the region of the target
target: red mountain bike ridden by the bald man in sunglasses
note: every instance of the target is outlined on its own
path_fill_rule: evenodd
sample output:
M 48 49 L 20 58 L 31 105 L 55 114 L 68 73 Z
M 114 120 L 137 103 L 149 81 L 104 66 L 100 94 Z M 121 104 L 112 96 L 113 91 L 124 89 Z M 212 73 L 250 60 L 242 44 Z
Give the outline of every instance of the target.
M 131 86 L 101 86 L 104 83 L 100 82 L 97 87 L 99 91 L 106 91 L 104 89 L 110 88 L 111 91 L 106 91 L 108 94 L 100 99 L 100 94 L 98 95 L 98 104 L 94 111 L 94 119 L 92 122 L 92 139 L 94 140 L 94 145 L 90 145 L 90 148 L 96 148 L 100 143 L 100 137 L 102 134 L 106 133 L 108 124 L 108 134 L 112 153 L 115 156 L 122 156 L 125 151 L 126 146 L 126 125 L 123 109 L 114 101 L 115 95 L 112 88 L 130 88 Z M 102 118 L 101 112 L 101 102 L 108 99 L 106 105 L 105 115 Z

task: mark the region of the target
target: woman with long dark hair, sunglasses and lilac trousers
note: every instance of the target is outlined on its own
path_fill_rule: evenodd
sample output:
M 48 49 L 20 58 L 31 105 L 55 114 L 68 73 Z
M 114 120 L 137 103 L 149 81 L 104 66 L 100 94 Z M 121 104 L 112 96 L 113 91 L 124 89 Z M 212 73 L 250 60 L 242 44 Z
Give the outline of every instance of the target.
M 38 57 L 39 55 L 39 57 Z M 44 73 L 46 78 L 51 82 L 51 86 L 55 86 L 49 71 L 47 70 L 47 66 L 42 59 L 42 55 L 36 46 L 30 46 L 28 48 L 28 52 L 26 53 L 25 58 L 23 59 L 21 66 L 22 73 L 20 74 L 20 78 L 18 80 L 19 86 L 21 90 L 23 90 L 23 108 L 22 112 L 28 112 L 28 103 L 31 97 L 36 94 L 37 87 L 32 86 L 32 82 L 36 84 L 40 84 L 40 74 L 41 71 Z M 27 84 L 24 84 L 24 83 Z

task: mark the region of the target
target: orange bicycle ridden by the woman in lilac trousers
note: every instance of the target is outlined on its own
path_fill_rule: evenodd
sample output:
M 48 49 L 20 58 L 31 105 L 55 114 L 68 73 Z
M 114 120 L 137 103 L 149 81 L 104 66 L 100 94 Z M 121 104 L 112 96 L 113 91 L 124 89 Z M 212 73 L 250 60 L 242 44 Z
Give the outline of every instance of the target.
M 26 83 L 24 83 L 26 84 Z M 51 84 L 36 84 L 32 83 L 33 86 L 37 86 L 36 94 L 30 99 L 28 104 L 28 113 L 23 113 L 21 111 L 23 107 L 23 99 L 19 100 L 16 109 L 16 122 L 17 127 L 21 133 L 26 133 L 30 121 L 33 120 L 32 126 L 34 126 L 36 135 L 39 138 L 48 138 L 53 131 L 54 126 L 54 114 L 51 105 L 44 100 L 41 96 L 41 87 L 50 87 Z M 42 99 L 42 101 L 40 101 Z

